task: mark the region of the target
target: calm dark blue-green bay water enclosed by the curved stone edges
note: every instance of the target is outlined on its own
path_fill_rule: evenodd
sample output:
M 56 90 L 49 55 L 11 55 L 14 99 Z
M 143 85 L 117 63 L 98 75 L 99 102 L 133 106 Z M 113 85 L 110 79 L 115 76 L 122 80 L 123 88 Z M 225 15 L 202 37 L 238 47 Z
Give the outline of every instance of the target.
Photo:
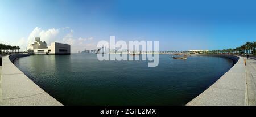
M 231 59 L 159 55 L 147 61 L 99 61 L 96 54 L 31 55 L 15 65 L 64 105 L 185 105 L 230 67 Z

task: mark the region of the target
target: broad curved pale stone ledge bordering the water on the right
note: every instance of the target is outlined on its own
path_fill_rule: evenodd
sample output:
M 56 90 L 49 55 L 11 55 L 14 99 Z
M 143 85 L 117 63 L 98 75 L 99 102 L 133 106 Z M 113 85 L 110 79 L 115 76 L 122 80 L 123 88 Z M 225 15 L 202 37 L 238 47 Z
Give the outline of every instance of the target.
M 187 106 L 246 105 L 246 72 L 243 58 L 235 55 L 214 56 L 232 59 L 234 66 L 203 93 L 188 102 Z

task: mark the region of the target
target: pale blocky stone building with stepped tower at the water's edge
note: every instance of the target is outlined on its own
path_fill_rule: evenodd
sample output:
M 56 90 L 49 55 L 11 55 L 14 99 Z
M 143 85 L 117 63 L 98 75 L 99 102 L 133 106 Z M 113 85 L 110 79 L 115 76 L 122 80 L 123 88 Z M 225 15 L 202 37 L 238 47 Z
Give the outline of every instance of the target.
M 29 54 L 70 54 L 70 45 L 52 42 L 50 46 L 46 46 L 46 42 L 42 42 L 40 37 L 35 38 L 34 44 L 28 46 Z

